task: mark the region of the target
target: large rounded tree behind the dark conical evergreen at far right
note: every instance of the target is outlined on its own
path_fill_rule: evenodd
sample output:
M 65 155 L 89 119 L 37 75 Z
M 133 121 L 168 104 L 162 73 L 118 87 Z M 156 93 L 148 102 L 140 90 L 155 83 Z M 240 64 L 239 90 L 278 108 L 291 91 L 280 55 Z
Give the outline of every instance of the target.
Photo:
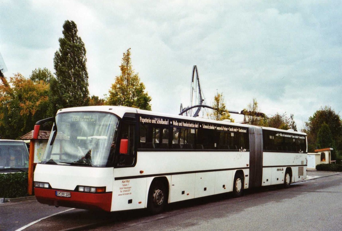
M 336 147 L 341 147 L 342 144 L 342 122 L 339 114 L 337 114 L 331 107 L 325 106 L 317 110 L 313 116 L 309 117 L 309 121 L 305 123 L 308 140 L 308 151 L 313 152 L 317 144 L 317 134 L 320 126 L 326 123 L 329 126 L 332 138 Z M 342 147 L 341 147 L 342 148 Z

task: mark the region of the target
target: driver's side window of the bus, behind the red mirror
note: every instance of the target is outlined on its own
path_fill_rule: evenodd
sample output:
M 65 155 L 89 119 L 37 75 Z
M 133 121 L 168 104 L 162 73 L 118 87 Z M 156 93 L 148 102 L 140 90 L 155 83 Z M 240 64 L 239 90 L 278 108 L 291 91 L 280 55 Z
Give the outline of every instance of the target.
M 128 140 L 128 151 L 127 154 L 119 153 L 120 147 L 118 148 L 117 155 L 117 166 L 131 166 L 134 164 L 135 155 L 134 155 L 134 124 L 126 124 L 122 123 L 121 125 L 121 139 Z

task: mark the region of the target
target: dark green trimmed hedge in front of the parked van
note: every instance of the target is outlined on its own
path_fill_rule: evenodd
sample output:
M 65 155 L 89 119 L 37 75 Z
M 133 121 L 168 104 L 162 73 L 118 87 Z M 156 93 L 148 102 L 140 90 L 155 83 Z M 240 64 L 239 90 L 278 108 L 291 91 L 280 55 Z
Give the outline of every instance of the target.
M 16 198 L 27 196 L 27 172 L 0 174 L 0 197 Z

